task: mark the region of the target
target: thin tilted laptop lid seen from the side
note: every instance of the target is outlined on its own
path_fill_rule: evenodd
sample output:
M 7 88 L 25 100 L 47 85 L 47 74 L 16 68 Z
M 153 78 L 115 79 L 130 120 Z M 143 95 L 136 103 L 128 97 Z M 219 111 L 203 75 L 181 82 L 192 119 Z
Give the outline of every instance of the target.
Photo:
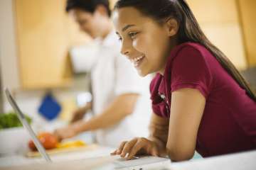
M 8 99 L 9 103 L 11 104 L 11 107 L 14 109 L 15 113 L 18 115 L 18 119 L 21 120 L 21 123 L 23 127 L 28 130 L 29 135 L 31 135 L 31 138 L 36 145 L 36 148 L 38 149 L 39 153 L 42 155 L 44 159 L 46 159 L 47 162 L 52 162 L 48 154 L 46 153 L 46 149 L 43 147 L 41 142 L 38 140 L 38 137 L 36 137 L 36 133 L 33 132 L 31 125 L 29 125 L 28 121 L 26 120 L 25 115 L 21 112 L 20 108 L 18 108 L 18 105 L 16 101 L 14 101 L 14 98 L 11 96 L 11 93 L 9 89 L 5 89 L 6 98 Z

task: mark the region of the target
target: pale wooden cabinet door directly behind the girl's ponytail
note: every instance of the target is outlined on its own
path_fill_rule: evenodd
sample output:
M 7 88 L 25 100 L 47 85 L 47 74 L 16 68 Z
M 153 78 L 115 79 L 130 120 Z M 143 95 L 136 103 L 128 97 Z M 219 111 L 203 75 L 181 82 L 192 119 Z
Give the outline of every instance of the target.
M 247 57 L 237 1 L 188 0 L 188 4 L 210 41 L 224 52 L 235 67 L 246 69 Z

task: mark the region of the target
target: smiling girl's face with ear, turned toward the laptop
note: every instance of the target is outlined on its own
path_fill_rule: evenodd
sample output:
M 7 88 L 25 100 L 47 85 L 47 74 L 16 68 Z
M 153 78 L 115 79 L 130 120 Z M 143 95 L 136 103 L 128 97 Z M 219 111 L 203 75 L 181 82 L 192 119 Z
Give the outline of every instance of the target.
M 139 74 L 142 77 L 153 72 L 163 74 L 173 46 L 171 36 L 176 35 L 173 21 L 160 25 L 133 7 L 117 9 L 113 20 L 122 42 L 121 53 L 128 57 Z M 178 29 L 177 24 L 176 27 Z

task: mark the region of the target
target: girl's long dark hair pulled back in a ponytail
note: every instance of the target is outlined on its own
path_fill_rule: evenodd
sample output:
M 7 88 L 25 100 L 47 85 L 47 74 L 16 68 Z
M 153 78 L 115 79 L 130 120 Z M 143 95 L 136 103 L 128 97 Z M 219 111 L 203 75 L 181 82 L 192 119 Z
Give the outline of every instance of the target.
M 245 89 L 246 94 L 256 101 L 255 94 L 252 93 L 249 85 L 228 60 L 218 47 L 215 47 L 201 30 L 191 9 L 185 0 L 118 0 L 114 9 L 132 6 L 137 8 L 145 16 L 161 21 L 165 18 L 176 18 L 179 23 L 178 42 L 196 42 L 208 49 L 218 60 L 222 67 L 230 74 L 233 79 Z

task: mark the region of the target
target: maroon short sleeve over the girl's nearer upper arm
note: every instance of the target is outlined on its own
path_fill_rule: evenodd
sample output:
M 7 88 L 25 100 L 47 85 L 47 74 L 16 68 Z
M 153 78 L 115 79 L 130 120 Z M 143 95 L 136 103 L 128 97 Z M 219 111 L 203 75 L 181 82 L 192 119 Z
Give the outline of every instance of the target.
M 207 97 L 212 76 L 206 57 L 196 47 L 186 45 L 178 51 L 171 69 L 171 92 L 183 88 L 198 89 Z

